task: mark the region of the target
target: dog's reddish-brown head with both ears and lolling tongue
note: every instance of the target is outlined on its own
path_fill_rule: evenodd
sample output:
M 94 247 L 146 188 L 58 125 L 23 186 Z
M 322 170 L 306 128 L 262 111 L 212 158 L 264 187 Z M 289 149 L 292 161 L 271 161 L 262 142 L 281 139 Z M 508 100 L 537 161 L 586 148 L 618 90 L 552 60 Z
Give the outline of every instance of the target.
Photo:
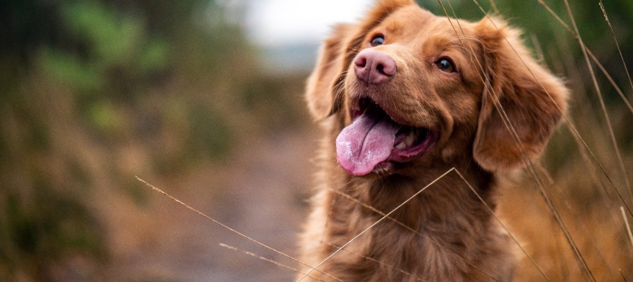
M 379 1 L 325 40 L 306 97 L 344 127 L 337 159 L 351 175 L 393 173 L 465 156 L 506 171 L 540 156 L 568 90 L 531 58 L 517 30 Z M 341 129 L 341 128 L 339 128 Z

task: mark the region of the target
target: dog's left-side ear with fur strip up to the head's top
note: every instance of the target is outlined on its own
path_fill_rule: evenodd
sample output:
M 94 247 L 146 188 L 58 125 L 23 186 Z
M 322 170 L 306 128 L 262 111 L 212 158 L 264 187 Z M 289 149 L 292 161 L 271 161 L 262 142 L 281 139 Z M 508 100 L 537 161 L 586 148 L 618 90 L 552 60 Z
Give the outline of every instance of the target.
M 308 108 L 316 120 L 339 110 L 343 73 L 358 53 L 367 32 L 396 9 L 412 4 L 415 4 L 413 0 L 378 1 L 358 25 L 339 24 L 332 28 L 332 35 L 323 42 L 306 87 Z

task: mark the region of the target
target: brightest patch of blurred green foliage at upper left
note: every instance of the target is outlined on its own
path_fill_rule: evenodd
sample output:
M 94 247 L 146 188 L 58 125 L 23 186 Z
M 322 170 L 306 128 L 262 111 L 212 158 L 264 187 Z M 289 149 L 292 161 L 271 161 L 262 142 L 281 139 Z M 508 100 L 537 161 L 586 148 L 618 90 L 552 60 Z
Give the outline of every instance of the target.
M 42 64 L 59 82 L 86 95 L 111 96 L 116 92 L 99 90 L 106 85 L 124 86 L 118 80 L 122 77 L 143 82 L 168 66 L 167 43 L 147 34 L 143 18 L 120 15 L 94 1 L 65 4 L 60 9 L 67 36 L 82 48 L 56 48 L 43 56 Z

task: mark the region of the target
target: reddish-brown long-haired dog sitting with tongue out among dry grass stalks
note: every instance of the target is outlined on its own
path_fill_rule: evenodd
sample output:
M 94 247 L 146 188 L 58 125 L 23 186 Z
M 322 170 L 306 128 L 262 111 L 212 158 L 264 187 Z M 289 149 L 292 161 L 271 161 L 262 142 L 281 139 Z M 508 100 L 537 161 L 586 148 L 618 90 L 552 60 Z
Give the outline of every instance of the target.
M 325 138 L 303 262 L 318 265 L 451 168 L 494 209 L 497 175 L 541 155 L 568 94 L 518 34 L 410 0 L 334 28 L 306 94 Z M 513 250 L 453 172 L 303 280 L 510 281 Z

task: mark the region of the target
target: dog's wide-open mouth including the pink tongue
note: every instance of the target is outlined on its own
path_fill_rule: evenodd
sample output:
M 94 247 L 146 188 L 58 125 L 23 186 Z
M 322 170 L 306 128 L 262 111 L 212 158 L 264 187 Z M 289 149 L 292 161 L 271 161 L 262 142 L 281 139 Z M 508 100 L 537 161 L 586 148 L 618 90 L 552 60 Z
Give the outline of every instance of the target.
M 408 162 L 422 156 L 437 142 L 437 130 L 394 121 L 369 98 L 353 109 L 353 122 L 336 138 L 336 156 L 351 175 L 382 172 L 391 162 Z

